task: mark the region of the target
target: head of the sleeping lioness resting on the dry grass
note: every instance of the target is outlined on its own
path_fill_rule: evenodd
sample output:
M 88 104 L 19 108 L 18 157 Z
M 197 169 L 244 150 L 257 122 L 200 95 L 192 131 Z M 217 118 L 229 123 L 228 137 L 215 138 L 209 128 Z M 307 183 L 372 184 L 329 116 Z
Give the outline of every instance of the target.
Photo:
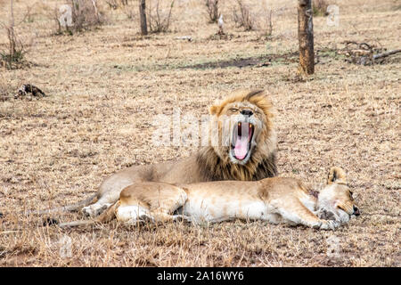
M 344 170 L 331 167 L 327 186 L 319 192 L 318 208 L 323 209 L 323 212 L 331 212 L 341 224 L 346 224 L 351 216 L 360 215 L 352 195 Z

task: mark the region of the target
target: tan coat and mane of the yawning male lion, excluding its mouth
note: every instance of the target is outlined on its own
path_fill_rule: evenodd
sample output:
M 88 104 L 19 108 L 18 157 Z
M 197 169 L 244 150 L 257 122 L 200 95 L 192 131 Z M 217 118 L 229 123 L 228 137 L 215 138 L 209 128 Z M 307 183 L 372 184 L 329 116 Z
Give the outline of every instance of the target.
M 275 166 L 276 138 L 273 126 L 272 104 L 263 91 L 242 90 L 229 96 L 222 103 L 210 108 L 211 115 L 218 121 L 223 115 L 231 116 L 230 106 L 239 111 L 252 110 L 251 117 L 256 123 L 254 144 L 246 162 L 233 162 L 230 147 L 209 145 L 202 147 L 192 156 L 172 162 L 150 166 L 135 166 L 123 169 L 111 175 L 101 185 L 98 200 L 83 208 L 88 216 L 96 216 L 110 207 L 120 192 L 129 185 L 149 183 L 200 183 L 220 180 L 250 181 L 273 177 L 277 174 Z M 237 114 L 238 115 L 238 114 Z M 221 126 L 219 134 L 221 135 Z M 228 138 L 227 138 L 228 139 Z M 230 138 L 231 139 L 231 133 Z M 138 189 L 134 187 L 133 189 Z

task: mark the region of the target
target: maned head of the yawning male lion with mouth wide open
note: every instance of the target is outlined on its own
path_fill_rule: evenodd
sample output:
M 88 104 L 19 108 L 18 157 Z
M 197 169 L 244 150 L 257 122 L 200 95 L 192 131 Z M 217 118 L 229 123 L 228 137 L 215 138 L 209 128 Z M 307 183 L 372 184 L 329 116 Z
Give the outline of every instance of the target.
M 252 157 L 275 150 L 272 104 L 263 91 L 238 91 L 210 108 L 217 121 L 219 142 L 214 145 L 221 159 L 246 165 Z M 258 159 L 258 158 L 256 158 Z

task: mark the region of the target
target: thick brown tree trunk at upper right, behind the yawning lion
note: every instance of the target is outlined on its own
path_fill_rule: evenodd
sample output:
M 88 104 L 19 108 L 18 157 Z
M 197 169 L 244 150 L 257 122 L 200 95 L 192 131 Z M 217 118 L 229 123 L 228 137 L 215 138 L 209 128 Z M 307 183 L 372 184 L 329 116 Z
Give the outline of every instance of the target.
M 315 72 L 312 0 L 298 0 L 299 73 Z

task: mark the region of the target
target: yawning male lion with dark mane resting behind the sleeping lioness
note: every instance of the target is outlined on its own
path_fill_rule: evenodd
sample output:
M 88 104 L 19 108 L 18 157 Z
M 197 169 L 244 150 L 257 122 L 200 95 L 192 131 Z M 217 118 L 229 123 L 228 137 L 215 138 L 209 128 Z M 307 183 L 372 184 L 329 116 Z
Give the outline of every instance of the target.
M 252 181 L 277 175 L 272 104 L 264 91 L 238 91 L 212 106 L 210 114 L 213 115 L 210 124 L 218 126 L 219 142 L 225 143 L 202 146 L 192 156 L 173 162 L 120 170 L 106 178 L 93 197 L 51 212 L 76 210 L 97 199 L 94 204 L 83 208 L 86 216 L 97 216 L 114 204 L 120 192 L 129 185 L 137 185 L 135 189 L 138 191 L 152 191 L 163 185 L 173 187 L 171 184 L 176 183 Z M 233 120 L 229 121 L 229 131 L 223 132 L 226 118 L 235 118 L 235 121 L 234 124 Z M 217 129 L 212 127 L 211 132 L 217 132 Z

